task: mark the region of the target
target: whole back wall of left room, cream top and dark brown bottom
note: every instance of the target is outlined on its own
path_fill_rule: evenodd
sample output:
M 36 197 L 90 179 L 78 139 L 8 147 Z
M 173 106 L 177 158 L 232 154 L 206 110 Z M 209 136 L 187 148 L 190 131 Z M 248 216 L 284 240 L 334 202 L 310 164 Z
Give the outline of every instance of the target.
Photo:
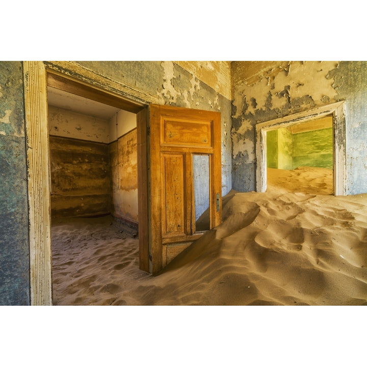
M 48 107 L 51 216 L 111 212 L 109 121 Z

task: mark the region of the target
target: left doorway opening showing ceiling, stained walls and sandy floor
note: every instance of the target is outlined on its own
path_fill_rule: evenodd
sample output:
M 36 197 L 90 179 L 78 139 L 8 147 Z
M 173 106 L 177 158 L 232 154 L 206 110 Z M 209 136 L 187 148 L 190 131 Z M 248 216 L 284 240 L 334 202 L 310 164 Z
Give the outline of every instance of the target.
M 50 86 L 47 100 L 53 303 L 85 292 L 95 303 L 106 287 L 95 274 L 139 267 L 137 115 Z M 103 291 L 113 301 L 117 289 Z

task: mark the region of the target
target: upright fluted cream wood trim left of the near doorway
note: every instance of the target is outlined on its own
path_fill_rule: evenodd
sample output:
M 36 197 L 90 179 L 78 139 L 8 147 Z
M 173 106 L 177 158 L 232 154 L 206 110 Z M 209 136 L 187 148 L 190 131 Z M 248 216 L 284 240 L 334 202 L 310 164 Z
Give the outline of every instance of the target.
M 28 160 L 31 305 L 51 305 L 47 86 L 43 63 L 24 61 L 23 77 Z

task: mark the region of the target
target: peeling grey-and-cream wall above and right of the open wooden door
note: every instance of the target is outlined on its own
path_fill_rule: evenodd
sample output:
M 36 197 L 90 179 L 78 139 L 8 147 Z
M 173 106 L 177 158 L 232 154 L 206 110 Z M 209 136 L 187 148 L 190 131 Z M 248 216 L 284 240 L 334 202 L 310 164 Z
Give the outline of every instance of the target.
M 229 62 L 78 61 L 78 64 L 169 104 L 221 113 L 222 194 L 232 188 Z

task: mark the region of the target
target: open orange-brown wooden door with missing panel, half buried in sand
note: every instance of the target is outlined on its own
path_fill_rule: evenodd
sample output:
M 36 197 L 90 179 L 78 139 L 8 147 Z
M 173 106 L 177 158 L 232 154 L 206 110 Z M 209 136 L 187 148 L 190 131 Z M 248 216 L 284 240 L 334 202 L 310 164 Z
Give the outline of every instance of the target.
M 156 274 L 221 222 L 221 120 L 219 112 L 158 105 L 148 120 L 148 269 L 141 268 Z

